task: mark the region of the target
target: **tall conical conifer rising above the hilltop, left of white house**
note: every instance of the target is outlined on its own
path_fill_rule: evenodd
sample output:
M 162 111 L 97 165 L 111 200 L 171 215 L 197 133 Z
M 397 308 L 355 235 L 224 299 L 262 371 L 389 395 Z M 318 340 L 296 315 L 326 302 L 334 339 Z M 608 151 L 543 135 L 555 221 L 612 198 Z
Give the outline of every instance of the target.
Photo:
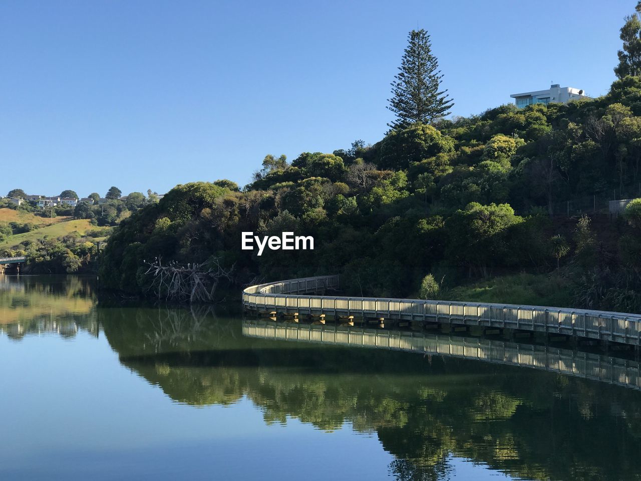
M 388 108 L 396 119 L 388 126 L 394 130 L 413 122 L 429 124 L 449 114 L 454 105 L 447 90 L 439 90 L 443 76 L 438 70 L 438 59 L 432 55 L 428 33 L 423 29 L 412 30 L 408 41 L 389 99 Z

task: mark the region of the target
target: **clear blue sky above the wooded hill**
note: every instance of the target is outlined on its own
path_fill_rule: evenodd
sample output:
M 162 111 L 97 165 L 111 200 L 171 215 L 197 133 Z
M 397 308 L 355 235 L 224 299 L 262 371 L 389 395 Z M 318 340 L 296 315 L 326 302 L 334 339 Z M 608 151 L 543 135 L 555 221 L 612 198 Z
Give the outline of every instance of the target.
M 453 114 L 615 79 L 636 0 L 0 2 L 0 193 L 125 194 L 374 143 L 408 31 Z

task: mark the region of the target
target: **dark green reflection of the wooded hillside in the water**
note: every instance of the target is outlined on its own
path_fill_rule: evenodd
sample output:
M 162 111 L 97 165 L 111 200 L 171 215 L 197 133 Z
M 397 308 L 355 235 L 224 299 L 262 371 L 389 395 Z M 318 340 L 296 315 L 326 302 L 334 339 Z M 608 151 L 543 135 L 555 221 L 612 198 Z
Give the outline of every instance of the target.
M 101 309 L 121 362 L 173 400 L 247 396 L 268 423 L 376 432 L 403 480 L 447 476 L 454 453 L 534 479 L 635 479 L 641 394 L 544 371 L 398 351 L 266 341 L 188 310 Z M 191 320 L 190 320 L 191 319 Z

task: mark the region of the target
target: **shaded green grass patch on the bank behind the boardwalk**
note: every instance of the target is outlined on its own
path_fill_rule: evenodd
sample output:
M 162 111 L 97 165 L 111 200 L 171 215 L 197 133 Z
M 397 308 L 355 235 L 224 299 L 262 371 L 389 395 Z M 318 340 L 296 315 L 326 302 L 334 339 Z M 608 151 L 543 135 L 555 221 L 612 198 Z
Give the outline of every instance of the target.
M 495 277 L 455 287 L 443 296 L 448 301 L 572 307 L 569 281 L 557 273 Z

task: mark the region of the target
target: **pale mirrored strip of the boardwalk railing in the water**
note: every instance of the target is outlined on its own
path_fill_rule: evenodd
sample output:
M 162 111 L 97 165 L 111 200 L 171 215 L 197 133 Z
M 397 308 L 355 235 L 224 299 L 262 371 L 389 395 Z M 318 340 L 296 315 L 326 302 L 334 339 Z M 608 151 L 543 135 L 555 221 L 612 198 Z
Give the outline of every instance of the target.
M 532 367 L 641 390 L 638 362 L 566 349 L 446 334 L 255 320 L 243 321 L 242 333 L 262 339 L 410 351 Z

